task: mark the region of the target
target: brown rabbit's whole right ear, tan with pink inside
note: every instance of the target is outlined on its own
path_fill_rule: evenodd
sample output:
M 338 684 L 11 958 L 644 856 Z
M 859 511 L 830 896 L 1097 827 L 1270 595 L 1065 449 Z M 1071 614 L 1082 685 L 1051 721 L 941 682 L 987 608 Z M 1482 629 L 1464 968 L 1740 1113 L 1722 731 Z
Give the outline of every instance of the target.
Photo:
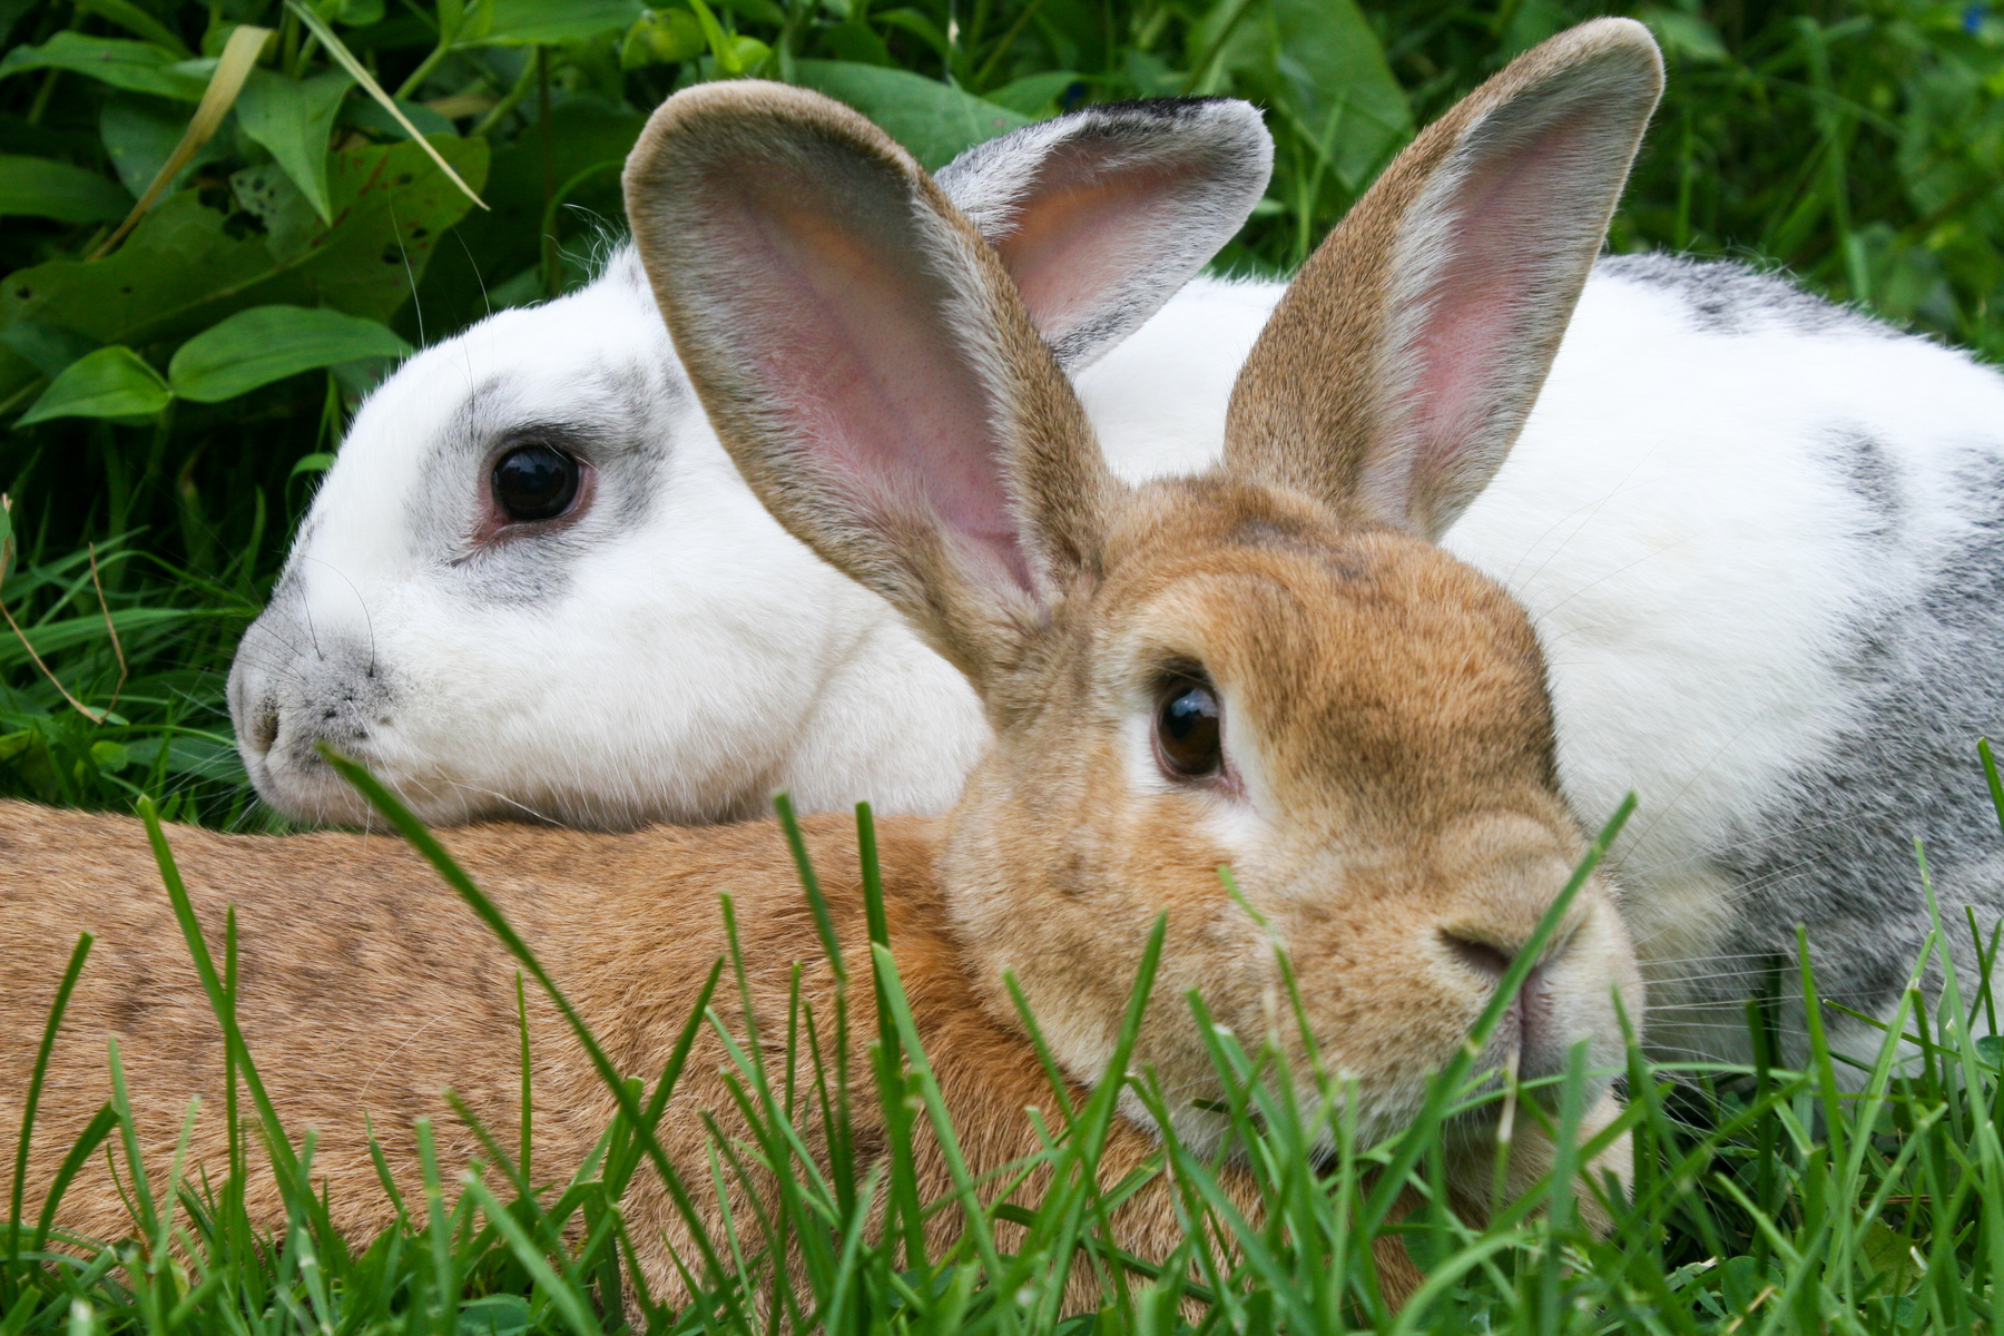
M 1439 537 L 1531 413 L 1661 88 L 1649 32 L 1601 18 L 1421 132 L 1252 347 L 1226 467 Z

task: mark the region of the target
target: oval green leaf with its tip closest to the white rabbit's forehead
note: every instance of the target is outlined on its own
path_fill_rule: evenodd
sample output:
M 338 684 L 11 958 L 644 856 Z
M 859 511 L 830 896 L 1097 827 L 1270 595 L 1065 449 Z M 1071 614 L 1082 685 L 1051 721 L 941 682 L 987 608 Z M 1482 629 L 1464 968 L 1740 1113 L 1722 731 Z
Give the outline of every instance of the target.
M 309 306 L 253 306 L 180 345 L 166 381 L 182 399 L 222 403 L 285 377 L 411 345 L 375 320 Z

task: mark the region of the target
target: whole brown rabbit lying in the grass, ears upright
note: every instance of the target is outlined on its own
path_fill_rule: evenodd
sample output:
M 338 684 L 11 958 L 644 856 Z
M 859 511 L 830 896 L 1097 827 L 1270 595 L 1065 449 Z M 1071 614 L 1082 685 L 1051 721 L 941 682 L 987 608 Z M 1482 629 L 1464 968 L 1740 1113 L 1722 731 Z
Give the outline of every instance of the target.
M 1004 971 L 1064 1074 L 1092 1086 L 1166 911 L 1132 1066 L 1160 1074 L 1176 1130 L 1202 1144 L 1216 1078 L 1182 997 L 1200 991 L 1216 1024 L 1257 1042 L 1275 1028 L 1281 945 L 1321 1062 L 1355 1082 L 1377 1134 L 1411 1118 L 1551 907 L 1585 845 L 1557 791 L 1537 641 L 1431 537 L 1523 423 L 1659 80 L 1645 30 L 1599 20 L 1459 104 L 1303 270 L 1238 383 L 1224 465 L 1140 489 L 1108 477 L 994 254 L 882 132 L 760 82 L 703 84 L 655 112 L 627 164 L 629 214 L 705 411 L 774 515 L 928 635 L 996 727 L 948 817 L 882 835 L 892 949 L 978 1174 L 1036 1150 L 1022 1110 L 1050 1102 Z M 784 1032 L 792 961 L 828 1014 L 830 971 L 770 823 L 489 827 L 449 845 L 621 1072 L 657 1072 L 673 1046 L 723 945 L 717 893 L 735 903 L 762 1034 Z M 810 845 L 860 957 L 854 837 L 822 819 Z M 240 1022 L 285 1122 L 321 1134 L 337 1224 L 389 1226 L 365 1114 L 407 1192 L 409 1126 L 443 1112 L 439 1088 L 495 1126 L 513 1118 L 513 961 L 383 837 L 176 831 L 174 849 L 210 933 L 236 905 Z M 104 1100 L 108 1034 L 146 1152 L 172 1150 L 202 1094 L 192 1154 L 216 1166 L 220 1042 L 140 827 L 0 807 L 0 905 L 14 1102 L 62 953 L 80 929 L 100 937 L 56 1046 L 30 1190 Z M 1609 1066 L 1617 989 L 1639 1012 L 1593 881 L 1487 1058 L 1545 1076 L 1585 1040 Z M 717 997 L 741 1034 L 735 997 Z M 611 1098 L 547 1008 L 531 1028 L 541 1178 L 581 1162 Z M 1279 1034 L 1309 1072 L 1295 1028 Z M 731 1128 L 723 1064 L 705 1038 L 661 1124 L 691 1184 L 709 1182 L 701 1116 Z M 1114 1174 L 1152 1146 L 1142 1110 L 1126 1112 Z M 1493 1130 L 1463 1132 L 1487 1166 Z M 459 1136 L 443 1154 L 477 1148 Z M 1535 1162 L 1517 1156 L 1519 1172 Z M 948 1192 L 934 1150 L 920 1172 L 924 1192 Z M 647 1278 L 677 1292 L 669 1250 L 695 1262 L 685 1222 L 647 1172 L 625 1208 Z M 253 1210 L 277 1216 L 269 1182 Z M 717 1210 L 699 1202 L 705 1220 Z M 100 1168 L 64 1198 L 68 1228 L 116 1236 L 122 1222 Z M 1116 1230 L 1142 1256 L 1180 1238 L 1160 1186 Z M 1389 1284 L 1409 1286 L 1393 1262 Z

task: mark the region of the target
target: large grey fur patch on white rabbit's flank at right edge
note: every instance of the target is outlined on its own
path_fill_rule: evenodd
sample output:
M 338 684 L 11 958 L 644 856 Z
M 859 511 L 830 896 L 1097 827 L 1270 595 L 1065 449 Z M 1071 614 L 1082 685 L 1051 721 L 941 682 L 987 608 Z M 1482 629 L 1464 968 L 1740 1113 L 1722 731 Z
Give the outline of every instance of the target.
M 1866 469 L 1868 491 L 1882 479 Z M 2004 729 L 2004 459 L 1972 449 L 1958 481 L 1968 535 L 1918 599 L 1856 637 L 1852 723 L 1715 857 L 1739 891 L 1719 961 L 1737 965 L 1705 987 L 1715 1006 L 1758 985 L 1760 957 L 1792 967 L 1804 923 L 1828 999 L 1892 1008 L 1930 927 L 1916 837 L 1962 977 L 1976 969 L 1964 905 L 1986 933 L 2004 915 L 2004 841 L 1976 757 L 1976 739 Z M 1826 1022 L 1876 1046 L 1858 1022 Z

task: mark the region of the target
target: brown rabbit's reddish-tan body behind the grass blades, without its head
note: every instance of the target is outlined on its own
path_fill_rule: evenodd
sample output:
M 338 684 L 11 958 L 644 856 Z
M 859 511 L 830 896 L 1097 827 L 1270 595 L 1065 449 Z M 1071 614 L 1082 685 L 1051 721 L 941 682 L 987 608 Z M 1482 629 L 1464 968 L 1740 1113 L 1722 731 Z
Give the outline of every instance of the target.
M 866 969 L 854 823 L 812 817 L 804 833 L 844 955 L 852 969 Z M 413 1204 L 423 1202 L 425 1186 L 413 1140 L 419 1118 L 437 1122 L 439 1164 L 447 1170 L 487 1158 L 447 1108 L 443 1090 L 513 1154 L 521 1122 L 517 963 L 473 913 L 441 893 L 421 857 L 399 839 L 347 833 L 244 837 L 176 827 L 170 845 L 218 967 L 224 913 L 236 913 L 238 1026 L 287 1132 L 319 1134 L 313 1182 L 317 1190 L 325 1184 L 333 1224 L 345 1236 L 367 1240 L 397 1224 L 369 1154 L 371 1130 L 393 1182 Z M 637 835 L 487 825 L 453 831 L 449 845 L 551 967 L 621 1074 L 651 1084 L 667 1064 L 711 963 L 729 949 L 715 901 L 725 887 L 747 969 L 743 993 L 731 975 L 713 993 L 721 1024 L 737 1044 L 762 1040 L 772 1080 L 784 1082 L 786 1036 L 804 1020 L 790 995 L 794 961 L 802 961 L 800 1001 L 822 1026 L 822 1052 L 832 1060 L 834 977 L 772 823 Z M 28 1218 L 38 1214 L 68 1146 L 112 1098 L 106 1036 L 118 1042 L 154 1192 L 196 1096 L 188 1164 L 206 1166 L 214 1178 L 228 1166 L 222 1032 L 180 947 L 144 827 L 126 817 L 0 803 L 0 849 L 8 863 L 0 875 L 0 945 L 10 963 L 0 979 L 0 1118 L 8 1126 L 20 1124 L 40 1040 L 36 1018 L 50 1006 L 76 933 L 96 935 L 42 1088 Z M 972 1001 L 966 951 L 946 921 L 930 867 L 930 823 L 884 823 L 878 853 L 900 977 L 968 1164 L 984 1174 L 1034 1154 L 1040 1142 L 1022 1110 L 1050 1110 L 1052 1088 L 1022 1032 Z M 868 1092 L 874 1078 L 860 1034 L 872 1024 L 864 1020 L 868 983 L 860 995 L 846 1080 L 850 1090 Z M 749 997 L 749 1012 L 741 997 Z M 585 1164 L 615 1102 L 535 983 L 527 1020 L 533 1174 L 537 1182 L 561 1180 Z M 747 1136 L 727 1072 L 735 1068 L 723 1042 L 703 1028 L 657 1128 L 711 1238 L 723 1236 L 723 1204 L 701 1190 L 709 1182 L 703 1116 L 717 1118 L 725 1136 Z M 814 1082 L 804 1040 L 796 1078 L 804 1088 Z M 834 1088 L 836 1074 L 826 1080 Z M 826 1128 L 814 1108 L 804 1100 L 796 1126 L 826 1166 Z M 242 1116 L 257 1120 L 246 1096 Z M 878 1102 L 858 1098 L 850 1116 L 856 1144 L 884 1154 Z M 950 1196 L 946 1162 L 924 1128 L 916 1148 L 924 1200 Z M 1116 1120 L 1108 1182 L 1152 1150 L 1144 1130 Z M 762 1180 L 758 1192 L 770 1206 L 772 1182 Z M 1118 1212 L 1116 1228 L 1142 1256 L 1164 1256 L 1180 1238 L 1166 1192 L 1158 1180 Z M 277 1178 L 253 1174 L 246 1194 L 253 1220 L 285 1222 Z M 752 1200 L 741 1184 L 731 1206 L 745 1230 Z M 669 1256 L 697 1274 L 701 1262 L 687 1222 L 649 1168 L 635 1176 L 623 1208 L 651 1292 L 679 1294 Z M 934 1242 L 950 1242 L 956 1216 L 940 1212 L 934 1220 Z M 132 1230 L 102 1156 L 64 1192 L 58 1224 L 106 1240 Z

